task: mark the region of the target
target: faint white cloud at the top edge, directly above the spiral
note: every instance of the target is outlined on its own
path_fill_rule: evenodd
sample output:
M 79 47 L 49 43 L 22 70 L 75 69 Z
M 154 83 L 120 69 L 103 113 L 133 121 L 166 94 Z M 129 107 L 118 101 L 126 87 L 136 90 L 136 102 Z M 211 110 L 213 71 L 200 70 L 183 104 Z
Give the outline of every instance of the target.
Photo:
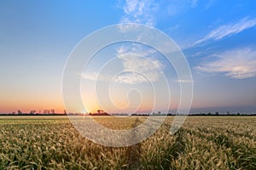
M 154 26 L 158 4 L 154 0 L 126 0 L 123 7 L 125 16 L 121 23 L 137 23 Z

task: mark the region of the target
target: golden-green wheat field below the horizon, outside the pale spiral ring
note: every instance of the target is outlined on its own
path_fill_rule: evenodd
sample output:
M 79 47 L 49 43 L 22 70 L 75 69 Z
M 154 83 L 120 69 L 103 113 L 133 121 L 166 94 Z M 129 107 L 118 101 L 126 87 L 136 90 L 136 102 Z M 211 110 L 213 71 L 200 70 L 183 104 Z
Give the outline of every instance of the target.
M 145 117 L 98 116 L 113 129 Z M 66 116 L 0 116 L 0 169 L 256 169 L 255 116 L 173 117 L 140 144 L 110 148 L 82 137 Z

